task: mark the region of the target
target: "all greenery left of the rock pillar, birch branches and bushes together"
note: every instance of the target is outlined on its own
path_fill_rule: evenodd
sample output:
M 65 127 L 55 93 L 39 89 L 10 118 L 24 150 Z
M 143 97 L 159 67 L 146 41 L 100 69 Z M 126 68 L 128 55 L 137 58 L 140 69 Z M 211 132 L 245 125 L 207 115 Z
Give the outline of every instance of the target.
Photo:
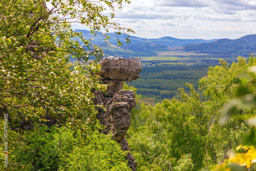
M 130 169 L 120 145 L 98 132 L 103 52 L 71 29 L 133 32 L 111 20 L 122 3 L 130 1 L 0 1 L 1 170 Z

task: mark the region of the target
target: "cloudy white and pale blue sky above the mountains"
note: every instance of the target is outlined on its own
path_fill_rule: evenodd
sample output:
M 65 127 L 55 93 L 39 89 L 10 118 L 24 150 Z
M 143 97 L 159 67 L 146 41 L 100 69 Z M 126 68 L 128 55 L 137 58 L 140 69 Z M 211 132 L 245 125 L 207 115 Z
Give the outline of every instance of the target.
M 256 0 L 131 0 L 114 21 L 143 38 L 236 39 L 256 34 Z

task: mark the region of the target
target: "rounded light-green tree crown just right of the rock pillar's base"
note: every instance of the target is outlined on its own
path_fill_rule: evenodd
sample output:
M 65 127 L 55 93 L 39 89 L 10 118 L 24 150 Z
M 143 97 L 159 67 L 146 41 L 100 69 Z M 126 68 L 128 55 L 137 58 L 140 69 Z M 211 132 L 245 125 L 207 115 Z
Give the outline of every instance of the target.
M 193 139 L 199 134 L 191 128 L 193 124 L 189 124 L 190 114 L 186 111 L 185 103 L 164 100 L 154 107 L 142 104 L 135 116 L 132 129 L 129 130 L 129 135 L 132 136 L 129 144 L 135 157 L 138 156 L 137 153 L 141 154 L 138 170 L 158 170 L 157 167 L 159 170 L 168 170 L 176 166 L 177 170 L 184 169 L 184 155 L 192 155 L 194 161 L 191 164 L 195 164 L 195 169 L 200 168 L 202 141 Z

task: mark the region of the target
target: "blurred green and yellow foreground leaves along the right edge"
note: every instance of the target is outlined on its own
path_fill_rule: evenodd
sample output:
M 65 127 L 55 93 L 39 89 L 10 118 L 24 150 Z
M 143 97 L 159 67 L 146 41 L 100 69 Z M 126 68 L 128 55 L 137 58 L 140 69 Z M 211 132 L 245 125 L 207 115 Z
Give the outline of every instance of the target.
M 245 62 L 243 62 L 245 63 Z M 250 57 L 248 67 L 246 69 L 246 75 L 241 77 L 241 83 L 238 85 L 237 93 L 233 99 L 227 103 L 223 108 L 225 114 L 222 118 L 222 122 L 226 122 L 228 119 L 243 118 L 253 127 L 250 132 L 243 136 L 241 145 L 236 148 L 236 151 L 230 152 L 228 158 L 217 165 L 212 170 L 255 170 L 254 163 L 256 161 L 256 134 L 255 134 L 255 58 Z M 237 65 L 241 66 L 241 65 Z M 253 67 L 252 67 L 253 66 Z M 245 112 L 246 111 L 246 112 Z M 241 115 L 243 114 L 243 115 Z M 253 116 L 253 117 L 252 117 Z M 249 118 L 249 119 L 248 119 Z M 241 151 L 242 153 L 238 152 Z

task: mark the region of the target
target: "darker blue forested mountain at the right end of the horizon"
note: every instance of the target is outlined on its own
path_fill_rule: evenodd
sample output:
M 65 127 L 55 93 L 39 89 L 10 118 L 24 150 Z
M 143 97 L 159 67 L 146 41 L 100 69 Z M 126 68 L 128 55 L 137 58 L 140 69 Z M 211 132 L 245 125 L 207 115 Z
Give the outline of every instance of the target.
M 250 34 L 238 39 L 219 39 L 203 44 L 184 45 L 185 51 L 197 51 L 199 53 L 242 53 L 256 52 L 256 34 Z

